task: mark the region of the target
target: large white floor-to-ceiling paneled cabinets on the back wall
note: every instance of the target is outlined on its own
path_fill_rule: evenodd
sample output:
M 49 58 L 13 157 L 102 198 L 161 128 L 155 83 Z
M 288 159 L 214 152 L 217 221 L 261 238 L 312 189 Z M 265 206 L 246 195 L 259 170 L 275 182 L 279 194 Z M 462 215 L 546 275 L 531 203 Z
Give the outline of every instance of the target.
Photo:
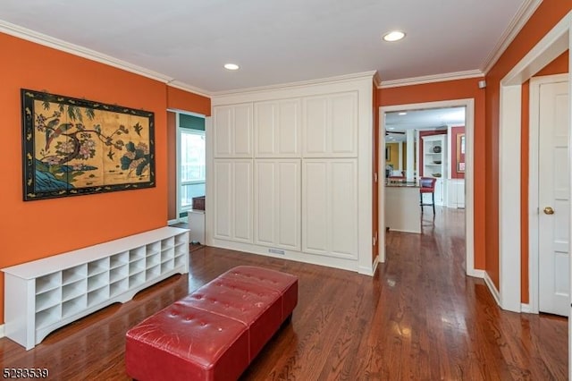
M 206 243 L 371 271 L 372 93 L 362 78 L 214 97 Z

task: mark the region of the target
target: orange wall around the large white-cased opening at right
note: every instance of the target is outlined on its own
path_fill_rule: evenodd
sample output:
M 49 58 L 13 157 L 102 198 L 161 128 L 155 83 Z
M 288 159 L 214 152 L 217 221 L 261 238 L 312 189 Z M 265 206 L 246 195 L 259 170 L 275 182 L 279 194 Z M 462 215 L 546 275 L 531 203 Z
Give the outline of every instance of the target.
M 486 75 L 485 157 L 487 274 L 499 289 L 499 118 L 501 79 L 572 9 L 570 1 L 544 0 Z

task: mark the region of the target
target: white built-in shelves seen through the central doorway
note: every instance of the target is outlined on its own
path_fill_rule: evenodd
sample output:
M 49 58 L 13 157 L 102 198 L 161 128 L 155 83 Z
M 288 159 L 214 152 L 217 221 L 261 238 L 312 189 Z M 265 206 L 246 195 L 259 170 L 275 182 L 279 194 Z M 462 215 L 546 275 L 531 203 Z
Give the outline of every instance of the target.
M 435 205 L 446 203 L 447 135 L 423 136 L 423 177 L 435 177 Z M 423 194 L 424 203 L 431 202 L 429 193 Z

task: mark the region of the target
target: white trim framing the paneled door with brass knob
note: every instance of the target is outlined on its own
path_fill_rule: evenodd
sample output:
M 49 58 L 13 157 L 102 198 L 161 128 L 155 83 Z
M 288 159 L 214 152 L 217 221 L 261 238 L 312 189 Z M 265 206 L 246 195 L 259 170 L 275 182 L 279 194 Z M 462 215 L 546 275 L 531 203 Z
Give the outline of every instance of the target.
M 547 83 L 568 81 L 568 74 L 552 74 L 533 77 L 530 80 L 530 127 L 528 154 L 528 309 L 537 314 L 540 301 L 540 241 L 538 229 L 540 203 L 538 190 L 539 143 L 540 143 L 540 87 Z M 568 269 L 569 271 L 569 269 Z

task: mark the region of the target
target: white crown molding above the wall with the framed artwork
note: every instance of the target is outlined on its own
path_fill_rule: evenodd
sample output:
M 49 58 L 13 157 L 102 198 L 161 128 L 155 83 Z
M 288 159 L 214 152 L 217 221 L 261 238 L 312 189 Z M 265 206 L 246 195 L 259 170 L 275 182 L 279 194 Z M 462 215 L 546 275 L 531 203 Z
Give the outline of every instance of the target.
M 154 72 L 144 67 L 122 61 L 112 57 L 111 55 L 105 55 L 87 47 L 80 47 L 79 45 L 71 44 L 70 42 L 63 41 L 62 39 L 53 38 L 43 33 L 38 33 L 37 31 L 14 25 L 13 23 L 7 21 L 0 20 L 0 32 L 16 38 L 22 38 L 27 41 L 34 42 L 44 47 L 52 47 L 56 50 L 66 52 L 71 55 L 78 55 L 97 63 L 104 63 L 108 66 L 113 66 L 126 72 L 132 72 L 134 74 L 150 78 L 151 80 L 158 80 L 168 84 L 169 86 L 172 86 L 173 88 L 190 91 L 204 97 L 210 97 L 208 91 L 189 86 L 178 80 L 174 80 L 168 75 L 162 74 L 160 72 Z

